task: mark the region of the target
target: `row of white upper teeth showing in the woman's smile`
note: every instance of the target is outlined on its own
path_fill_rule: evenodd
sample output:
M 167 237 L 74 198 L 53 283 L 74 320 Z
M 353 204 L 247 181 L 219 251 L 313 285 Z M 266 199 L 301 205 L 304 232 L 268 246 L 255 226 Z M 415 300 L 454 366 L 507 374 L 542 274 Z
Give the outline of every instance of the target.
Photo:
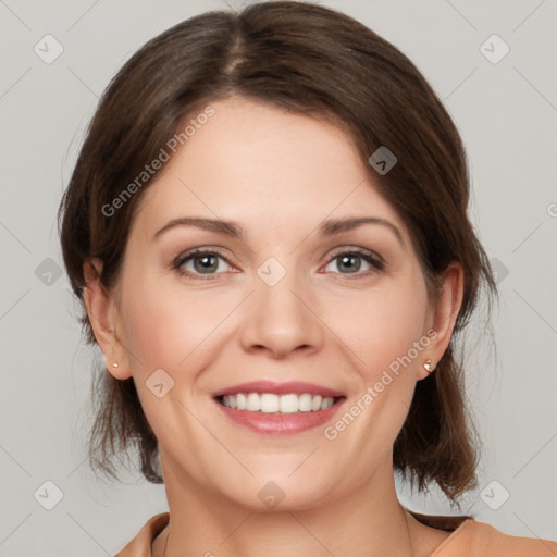
M 334 403 L 335 399 L 331 396 L 322 397 L 309 393 L 301 395 L 290 393 L 281 396 L 273 393 L 238 393 L 222 397 L 222 404 L 227 408 L 263 413 L 317 412 L 331 408 Z

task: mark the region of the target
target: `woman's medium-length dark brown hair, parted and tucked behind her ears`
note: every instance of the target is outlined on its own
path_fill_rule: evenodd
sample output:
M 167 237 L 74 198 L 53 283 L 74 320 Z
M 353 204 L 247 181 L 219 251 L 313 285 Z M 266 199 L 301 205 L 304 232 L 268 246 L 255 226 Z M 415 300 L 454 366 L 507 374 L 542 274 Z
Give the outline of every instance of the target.
M 410 60 L 354 18 L 309 3 L 259 2 L 239 13 L 191 17 L 137 51 L 104 91 L 60 206 L 73 292 L 83 304 L 84 263 L 92 257 L 103 261 L 103 286 L 114 288 L 134 208 L 149 182 L 116 218 L 103 208 L 160 154 L 185 117 L 231 96 L 326 117 L 350 134 L 380 193 L 410 231 L 432 299 L 438 274 L 453 261 L 461 263 L 463 301 L 450 345 L 436 372 L 418 382 L 394 445 L 395 469 L 419 491 L 436 482 L 456 500 L 476 486 L 479 455 L 455 339 L 482 287 L 495 294 L 495 283 L 467 215 L 468 168 L 455 124 Z M 367 163 L 381 146 L 398 160 L 384 175 Z M 86 312 L 82 323 L 95 344 Z M 92 468 L 117 478 L 114 457 L 137 442 L 143 474 L 161 483 L 157 438 L 133 379 L 97 371 Z

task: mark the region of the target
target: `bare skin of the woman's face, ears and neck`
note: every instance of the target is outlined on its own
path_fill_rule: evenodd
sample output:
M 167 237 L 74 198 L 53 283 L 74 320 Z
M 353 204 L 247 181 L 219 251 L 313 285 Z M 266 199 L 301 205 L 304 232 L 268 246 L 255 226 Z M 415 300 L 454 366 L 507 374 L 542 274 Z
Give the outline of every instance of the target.
M 344 132 L 240 98 L 211 106 L 214 116 L 145 191 L 117 288 L 101 288 L 100 261 L 86 264 L 85 301 L 108 369 L 134 377 L 159 440 L 171 522 L 153 555 L 164 545 L 166 557 L 428 555 L 448 533 L 405 512 L 392 451 L 428 376 L 423 361 L 448 346 L 462 270 L 449 267 L 432 304 L 405 223 Z M 233 220 L 246 235 L 178 226 L 153 239 L 183 216 Z M 318 235 L 323 220 L 347 216 L 384 219 L 401 242 L 381 224 Z M 357 258 L 359 270 L 347 271 L 335 256 L 358 247 L 384 269 Z M 173 267 L 193 248 L 222 251 L 214 278 L 194 260 L 183 268 L 195 276 Z M 257 274 L 269 257 L 286 270 L 274 286 Z M 246 381 L 306 381 L 345 393 L 347 409 L 432 327 L 435 339 L 333 441 L 323 426 L 257 434 L 210 395 Z M 158 369 L 174 381 L 162 398 L 146 386 Z M 270 481 L 285 495 L 274 508 L 258 497 Z

